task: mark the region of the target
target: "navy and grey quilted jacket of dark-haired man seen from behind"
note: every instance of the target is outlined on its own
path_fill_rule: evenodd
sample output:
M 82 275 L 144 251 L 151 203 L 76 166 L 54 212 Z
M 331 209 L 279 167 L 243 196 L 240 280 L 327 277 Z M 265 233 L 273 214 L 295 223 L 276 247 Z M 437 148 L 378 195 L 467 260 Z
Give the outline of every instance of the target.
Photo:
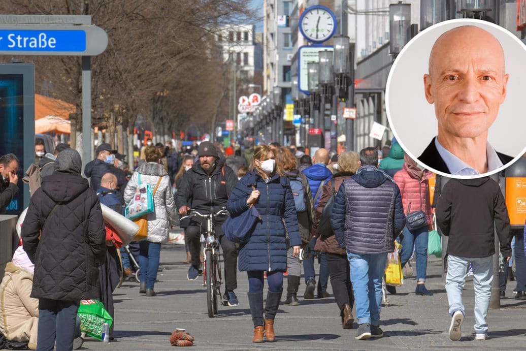
M 331 224 L 338 244 L 349 252 L 393 252 L 395 238 L 406 224 L 400 189 L 376 167 L 360 167 L 343 180 L 332 207 Z

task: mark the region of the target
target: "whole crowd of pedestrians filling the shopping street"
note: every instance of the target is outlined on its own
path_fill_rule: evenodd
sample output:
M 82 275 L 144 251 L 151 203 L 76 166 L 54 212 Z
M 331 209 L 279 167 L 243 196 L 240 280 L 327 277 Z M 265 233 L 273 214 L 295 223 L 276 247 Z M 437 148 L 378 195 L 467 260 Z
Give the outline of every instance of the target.
M 6 328 L 6 314 L 0 316 L 0 332 L 11 333 L 6 335 L 8 339 L 26 343 L 31 349 L 80 347 L 83 339 L 76 318 L 80 300 L 98 298 L 114 317 L 112 294 L 123 276 L 133 277 L 132 269 L 139 270 L 138 293 L 156 296 L 161 244 L 168 241 L 169 230 L 176 225 L 185 232 L 187 279 L 196 280 L 203 272 L 200 236 L 205 228 L 198 217 L 179 221 L 191 210 L 210 214 L 226 208 L 236 216 L 254 206 L 259 212 L 260 218 L 244 244 L 235 244 L 223 234 L 226 217 L 217 217 L 215 222 L 224 258 L 222 298 L 227 306 L 239 305 L 237 270 L 247 272 L 254 343 L 272 342 L 279 334 L 275 319 L 281 302 L 298 306 L 302 305 L 301 298 L 329 297 L 329 278 L 342 328 L 357 328 L 358 340 L 382 337 L 382 282 L 395 240 L 402 246 L 402 266 L 413 255 L 416 258 L 416 296 L 432 295 L 425 282 L 433 214 L 441 234 L 449 237 L 446 290 L 451 340 L 461 335 L 466 314 L 461 291 L 470 265 L 476 289 L 474 332 L 477 340 L 488 337 L 493 228 L 497 229 L 501 255 L 507 260 L 512 255 L 511 238 L 516 234 L 517 298 L 526 299 L 526 282 L 519 282 L 526 274 L 526 269 L 519 267 L 524 263 L 523 235 L 511 232 L 497 183 L 488 177 L 444 182 L 438 185 L 431 203 L 429 180 L 434 175 L 404 155 L 394 141 L 382 151 L 376 147 L 360 153 L 342 149 L 339 155 L 331 156 L 319 148 L 310 157 L 301 147 L 278 143 L 225 148 L 201 142 L 188 153 L 177 154 L 150 140 L 134 162 L 134 172 L 125 171 L 125 155 L 103 143 L 84 169 L 89 182 L 81 175 L 82 161 L 74 149 L 60 144 L 53 155 L 42 154 L 41 148 L 37 145 L 35 149 L 36 162 L 44 163 L 47 157 L 49 164 L 46 160 L 44 174 L 38 172 L 39 167 L 28 173 L 27 182 L 38 187 L 32 188 L 22 226 L 23 249 L 17 250 L 5 272 L 6 277 L 18 270 L 27 275 L 25 288 L 20 290 L 24 296 L 19 298 L 29 299 L 34 307 L 20 310 L 23 333 L 8 332 L 12 329 Z M 389 156 L 382 158 L 382 154 Z M 54 172 L 48 172 L 49 165 Z M 15 155 L 0 157 L 0 213 L 18 192 L 18 168 Z M 147 238 L 131 243 L 130 253 L 108 237 L 99 203 L 124 214 L 136 188 L 144 183 L 153 190 L 155 210 L 147 217 Z M 419 210 L 426 225 L 409 228 L 406 216 Z M 465 219 L 471 217 L 485 220 L 478 221 L 473 229 L 473 222 L 467 224 Z M 134 244 L 138 267 L 127 259 L 128 254 L 135 256 Z M 305 292 L 299 295 L 301 267 Z M 9 284 L 18 284 L 12 280 Z M 389 291 L 396 294 L 393 287 Z M 16 298 L 4 293 L 0 300 L 16 303 Z M 118 320 L 115 322 L 118 325 Z M 112 325 L 112 339 L 113 329 Z

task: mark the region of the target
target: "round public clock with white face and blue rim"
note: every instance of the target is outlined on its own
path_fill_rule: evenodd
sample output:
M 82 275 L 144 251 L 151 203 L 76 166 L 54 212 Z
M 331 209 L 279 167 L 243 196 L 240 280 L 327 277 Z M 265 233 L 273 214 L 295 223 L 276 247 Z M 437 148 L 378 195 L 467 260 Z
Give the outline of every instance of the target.
M 336 16 L 325 6 L 305 9 L 299 18 L 301 34 L 310 42 L 323 43 L 336 32 Z

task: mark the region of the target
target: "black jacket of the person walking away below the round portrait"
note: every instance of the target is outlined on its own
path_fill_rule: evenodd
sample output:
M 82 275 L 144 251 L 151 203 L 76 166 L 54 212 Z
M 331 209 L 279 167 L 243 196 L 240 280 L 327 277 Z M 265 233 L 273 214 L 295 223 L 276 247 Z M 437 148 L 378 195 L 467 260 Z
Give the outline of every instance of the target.
M 502 255 L 511 256 L 508 209 L 499 185 L 490 177 L 450 179 L 442 188 L 436 216 L 442 234 L 449 236 L 448 254 L 493 255 L 496 228 Z

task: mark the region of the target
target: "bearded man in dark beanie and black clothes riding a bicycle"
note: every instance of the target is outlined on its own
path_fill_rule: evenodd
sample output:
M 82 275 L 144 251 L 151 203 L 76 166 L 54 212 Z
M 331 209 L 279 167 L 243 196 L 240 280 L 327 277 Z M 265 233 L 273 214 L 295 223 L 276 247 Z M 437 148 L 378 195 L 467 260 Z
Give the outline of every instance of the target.
M 199 145 L 198 156 L 199 161 L 185 173 L 177 189 L 175 202 L 180 215 L 187 214 L 190 208 L 202 214 L 217 213 L 226 206 L 228 196 L 237 184 L 237 175 L 220 161 L 216 147 L 212 143 L 202 142 Z M 223 234 L 221 225 L 225 220 L 226 216 L 217 217 L 214 227 L 215 236 L 219 239 L 225 258 L 226 292 L 223 298 L 228 301 L 228 306 L 237 306 L 239 302 L 234 293 L 237 288 L 237 248 Z M 206 224 L 199 217 L 194 217 L 186 229 L 186 240 L 191 255 L 188 280 L 196 280 L 202 272 L 199 239 L 200 234 L 205 230 Z

